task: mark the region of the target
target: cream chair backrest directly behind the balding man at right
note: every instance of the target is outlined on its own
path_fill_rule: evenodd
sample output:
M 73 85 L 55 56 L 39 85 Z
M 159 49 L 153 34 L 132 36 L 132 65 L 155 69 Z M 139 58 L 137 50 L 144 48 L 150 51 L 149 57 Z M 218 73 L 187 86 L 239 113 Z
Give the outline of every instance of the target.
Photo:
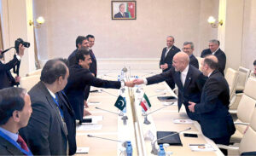
M 236 93 L 236 84 L 238 79 L 238 72 L 232 68 L 228 68 L 225 74 L 225 78 L 230 86 L 230 98 Z

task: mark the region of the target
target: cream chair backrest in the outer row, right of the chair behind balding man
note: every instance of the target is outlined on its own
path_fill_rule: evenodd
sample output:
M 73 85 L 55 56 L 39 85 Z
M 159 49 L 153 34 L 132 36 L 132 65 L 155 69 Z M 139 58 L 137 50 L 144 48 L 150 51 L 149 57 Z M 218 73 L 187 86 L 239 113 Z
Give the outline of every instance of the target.
M 247 69 L 245 67 L 239 66 L 238 68 L 238 80 L 237 80 L 237 86 L 236 86 L 236 90 L 244 90 L 244 86 L 247 82 L 247 79 L 250 76 L 250 69 Z

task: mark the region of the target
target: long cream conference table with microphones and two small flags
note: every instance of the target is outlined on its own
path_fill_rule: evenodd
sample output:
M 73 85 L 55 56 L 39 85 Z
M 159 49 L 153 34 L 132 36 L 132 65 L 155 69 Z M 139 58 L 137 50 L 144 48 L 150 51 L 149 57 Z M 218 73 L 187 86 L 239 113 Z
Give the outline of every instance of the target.
M 113 72 L 108 73 L 108 75 L 104 74 L 100 78 L 117 80 L 118 75 L 118 72 Z M 146 78 L 150 75 L 152 73 L 132 72 L 127 73 L 125 79 Z M 152 142 L 156 140 L 157 131 L 182 131 L 178 134 L 182 146 L 167 146 L 164 144 L 166 155 L 223 155 L 212 140 L 203 136 L 200 124 L 188 120 L 189 117 L 184 107 L 178 113 L 177 102 L 170 103 L 158 100 L 157 96 L 176 96 L 165 82 L 147 86 L 136 85 L 134 88 L 125 87 L 125 90 L 96 87 L 91 87 L 91 90 L 98 90 L 90 93 L 88 99 L 89 108 L 87 110 L 90 111 L 91 115 L 86 118 L 92 118 L 92 123 L 78 124 L 76 136 L 78 151 L 81 147 L 89 147 L 89 153 L 76 153 L 76 155 L 125 155 L 125 148 L 122 146 L 125 141 L 131 141 L 134 156 L 154 155 L 151 150 Z M 144 93 L 151 103 L 150 109 L 146 112 L 150 124 L 143 124 L 145 113 L 140 106 L 140 102 Z M 126 123 L 122 119 L 123 116 L 120 116 L 121 111 L 114 107 L 114 103 L 120 94 L 125 96 L 126 100 L 126 111 L 123 113 L 123 116 L 128 118 Z M 187 123 L 187 121 L 189 122 Z M 197 134 L 198 137 L 185 137 L 183 133 Z M 189 145 L 210 146 L 213 150 L 196 152 L 192 151 Z M 156 143 L 155 147 L 158 148 Z

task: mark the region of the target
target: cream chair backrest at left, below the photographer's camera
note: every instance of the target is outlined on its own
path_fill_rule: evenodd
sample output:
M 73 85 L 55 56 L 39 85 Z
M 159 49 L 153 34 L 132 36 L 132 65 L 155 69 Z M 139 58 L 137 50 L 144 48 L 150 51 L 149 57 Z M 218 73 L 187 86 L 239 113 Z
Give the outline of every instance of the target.
M 22 78 L 20 78 L 20 87 L 29 91 L 39 81 L 40 81 L 40 75 L 33 75 L 30 77 L 22 77 Z

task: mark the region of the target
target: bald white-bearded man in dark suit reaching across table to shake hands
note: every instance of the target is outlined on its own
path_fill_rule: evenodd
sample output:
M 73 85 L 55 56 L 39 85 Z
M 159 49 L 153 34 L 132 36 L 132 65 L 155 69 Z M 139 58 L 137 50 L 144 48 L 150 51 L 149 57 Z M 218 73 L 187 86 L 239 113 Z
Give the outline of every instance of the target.
M 206 81 L 206 77 L 195 68 L 189 65 L 189 56 L 184 52 L 179 52 L 173 57 L 172 68 L 167 71 L 154 75 L 149 78 L 136 79 L 134 84 L 157 84 L 163 82 L 167 78 L 172 78 L 178 88 L 178 111 L 182 104 L 186 108 L 189 118 L 198 120 L 195 113 L 189 111 L 189 101 L 200 102 L 201 89 Z

